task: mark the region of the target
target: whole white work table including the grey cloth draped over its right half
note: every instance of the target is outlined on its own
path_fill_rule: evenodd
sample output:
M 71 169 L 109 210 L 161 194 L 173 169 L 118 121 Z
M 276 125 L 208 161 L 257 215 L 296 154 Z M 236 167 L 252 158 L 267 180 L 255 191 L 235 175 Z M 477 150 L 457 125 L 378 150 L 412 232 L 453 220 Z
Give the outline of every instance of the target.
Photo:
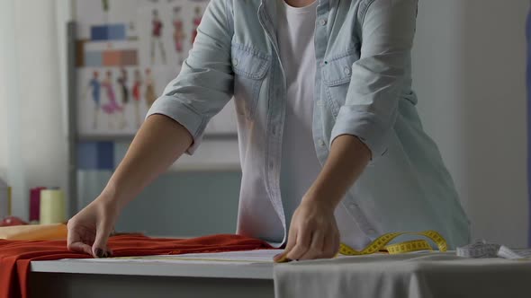
M 263 263 L 246 261 L 230 264 L 220 262 L 219 259 L 195 259 L 193 263 L 191 259 L 181 260 L 185 258 L 181 256 L 163 257 L 171 260 L 147 258 L 158 260 L 74 259 L 31 262 L 30 296 L 531 296 L 531 259 L 464 259 L 455 256 L 455 252 L 377 254 L 280 264 L 275 265 L 274 270 L 270 256 L 263 259 Z

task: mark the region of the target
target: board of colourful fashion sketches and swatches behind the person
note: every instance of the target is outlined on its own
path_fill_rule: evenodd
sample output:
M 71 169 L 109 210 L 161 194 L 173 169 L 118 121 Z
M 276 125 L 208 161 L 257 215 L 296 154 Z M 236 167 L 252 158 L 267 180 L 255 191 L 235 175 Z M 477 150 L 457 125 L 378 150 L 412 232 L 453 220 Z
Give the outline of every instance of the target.
M 76 0 L 77 130 L 134 136 L 180 72 L 208 0 Z M 205 136 L 237 134 L 232 101 Z

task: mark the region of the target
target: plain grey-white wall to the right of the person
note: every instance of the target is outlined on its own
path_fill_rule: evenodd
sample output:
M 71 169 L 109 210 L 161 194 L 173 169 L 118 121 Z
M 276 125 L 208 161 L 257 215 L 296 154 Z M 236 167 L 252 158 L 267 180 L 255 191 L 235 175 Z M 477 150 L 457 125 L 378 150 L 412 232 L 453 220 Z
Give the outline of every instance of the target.
M 473 236 L 527 245 L 528 0 L 420 0 L 414 78 Z

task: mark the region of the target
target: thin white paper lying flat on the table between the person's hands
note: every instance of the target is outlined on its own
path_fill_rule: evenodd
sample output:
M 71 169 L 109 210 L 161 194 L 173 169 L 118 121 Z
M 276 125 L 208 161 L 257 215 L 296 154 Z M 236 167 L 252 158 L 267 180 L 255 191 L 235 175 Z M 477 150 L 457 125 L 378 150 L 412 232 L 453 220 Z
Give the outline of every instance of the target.
M 245 250 L 213 253 L 188 253 L 182 255 L 157 255 L 143 257 L 120 257 L 106 259 L 72 259 L 90 262 L 162 262 L 162 263 L 193 263 L 193 264 L 211 264 L 224 263 L 233 265 L 244 265 L 253 263 L 273 263 L 273 257 L 284 250 Z

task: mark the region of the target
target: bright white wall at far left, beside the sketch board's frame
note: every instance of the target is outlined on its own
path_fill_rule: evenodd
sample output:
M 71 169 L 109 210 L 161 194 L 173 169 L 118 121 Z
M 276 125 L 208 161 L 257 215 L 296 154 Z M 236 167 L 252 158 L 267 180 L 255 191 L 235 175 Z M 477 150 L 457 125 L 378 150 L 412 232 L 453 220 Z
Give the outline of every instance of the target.
M 28 188 L 67 188 L 67 141 L 61 106 L 56 2 L 7 0 L 0 4 L 3 31 L 0 108 L 9 110 L 0 138 L 0 169 L 14 185 L 14 215 L 28 214 Z M 11 32 L 11 33 L 10 33 Z M 2 82 L 2 81 L 0 81 Z M 3 110 L 4 110 L 3 109 Z M 0 146 L 2 148 L 2 146 Z

